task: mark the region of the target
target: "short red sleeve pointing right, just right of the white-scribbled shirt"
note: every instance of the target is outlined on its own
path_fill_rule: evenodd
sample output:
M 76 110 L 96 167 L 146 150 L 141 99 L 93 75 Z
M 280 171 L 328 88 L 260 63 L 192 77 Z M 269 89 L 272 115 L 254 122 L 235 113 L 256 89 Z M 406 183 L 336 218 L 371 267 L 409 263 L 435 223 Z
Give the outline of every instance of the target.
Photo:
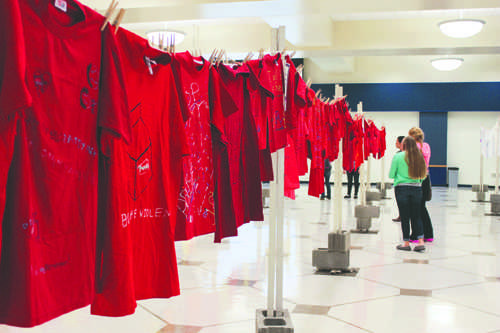
M 210 70 L 209 100 L 212 125 L 215 126 L 220 133 L 224 133 L 224 122 L 226 117 L 236 112 L 238 106 L 227 91 L 226 86 L 214 67 L 211 67 Z

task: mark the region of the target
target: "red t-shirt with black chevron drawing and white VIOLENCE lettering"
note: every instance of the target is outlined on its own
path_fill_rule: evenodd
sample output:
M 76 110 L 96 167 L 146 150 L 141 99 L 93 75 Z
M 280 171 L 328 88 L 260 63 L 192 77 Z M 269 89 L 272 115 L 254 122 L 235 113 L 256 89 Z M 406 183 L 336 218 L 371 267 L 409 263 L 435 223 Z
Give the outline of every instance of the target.
M 124 29 L 117 36 L 113 59 L 127 73 L 117 84 L 127 91 L 132 138 L 129 145 L 101 139 L 107 156 L 91 312 L 106 316 L 134 313 L 136 300 L 179 294 L 174 223 L 187 152 L 171 56 Z

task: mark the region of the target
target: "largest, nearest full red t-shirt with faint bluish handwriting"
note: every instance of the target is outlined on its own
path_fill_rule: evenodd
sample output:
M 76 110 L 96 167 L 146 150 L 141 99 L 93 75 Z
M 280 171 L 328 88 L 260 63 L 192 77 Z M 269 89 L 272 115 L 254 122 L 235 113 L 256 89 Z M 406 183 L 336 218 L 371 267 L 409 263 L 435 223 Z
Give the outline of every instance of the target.
M 19 3 L 33 105 L 18 122 L 7 185 L 0 323 L 29 327 L 92 301 L 98 127 L 127 140 L 130 127 L 122 92 L 100 82 L 118 71 L 101 66 L 103 17 L 73 1 L 66 11 Z

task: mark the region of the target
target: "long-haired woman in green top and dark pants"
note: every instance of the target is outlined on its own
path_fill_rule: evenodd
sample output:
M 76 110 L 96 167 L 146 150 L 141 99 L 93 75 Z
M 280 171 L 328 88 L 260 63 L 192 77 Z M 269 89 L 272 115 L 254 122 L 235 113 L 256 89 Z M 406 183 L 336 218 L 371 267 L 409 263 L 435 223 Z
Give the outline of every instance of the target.
M 413 250 L 422 252 L 425 250 L 425 246 L 420 203 L 422 201 L 422 181 L 427 176 L 427 166 L 422 152 L 411 136 L 407 136 L 403 140 L 402 148 L 403 151 L 394 155 L 389 172 L 389 177 L 394 179 L 394 192 L 403 232 L 403 244 L 396 248 L 402 251 L 411 251 L 411 220 L 414 228 L 413 235 L 418 239 L 418 244 Z

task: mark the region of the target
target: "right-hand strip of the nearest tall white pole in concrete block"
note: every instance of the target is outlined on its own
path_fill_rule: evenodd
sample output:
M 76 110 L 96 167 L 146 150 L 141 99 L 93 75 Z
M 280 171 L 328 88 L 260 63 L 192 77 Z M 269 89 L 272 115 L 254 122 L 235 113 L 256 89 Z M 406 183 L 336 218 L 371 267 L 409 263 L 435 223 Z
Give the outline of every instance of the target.
M 285 42 L 285 27 L 278 28 L 277 48 L 278 52 L 284 49 Z M 288 87 L 288 66 L 286 65 L 285 58 L 282 58 L 284 80 L 283 80 L 283 107 L 286 110 L 286 98 Z M 277 227 L 276 227 L 276 310 L 283 310 L 283 234 L 285 223 L 285 148 L 278 151 L 278 214 L 277 214 Z

